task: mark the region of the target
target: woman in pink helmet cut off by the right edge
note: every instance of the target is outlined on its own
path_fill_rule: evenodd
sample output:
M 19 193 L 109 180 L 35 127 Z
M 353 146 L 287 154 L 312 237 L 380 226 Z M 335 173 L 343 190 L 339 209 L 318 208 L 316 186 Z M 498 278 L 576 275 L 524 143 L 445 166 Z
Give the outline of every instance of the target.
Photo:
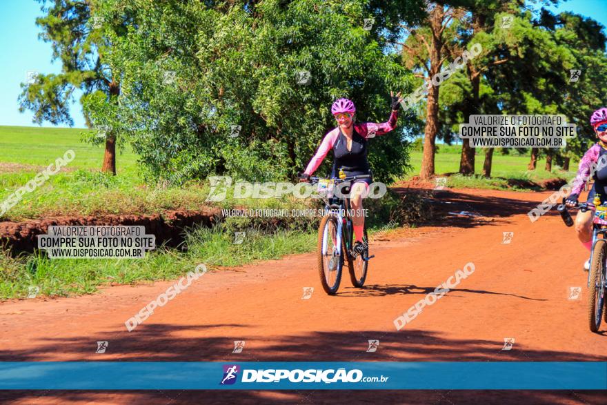
M 577 176 L 575 177 L 575 183 L 571 189 L 569 197 L 567 197 L 565 204 L 567 206 L 575 206 L 581 189 L 584 187 L 584 179 L 590 176 L 590 172 L 593 168 L 593 164 L 596 164 L 602 156 L 607 153 L 607 108 L 599 108 L 590 117 L 590 125 L 593 126 L 599 141 L 594 144 L 590 149 L 584 153 L 584 157 L 579 161 L 579 169 L 577 170 Z M 603 157 L 602 159 L 607 159 Z M 588 192 L 588 198 L 586 202 L 593 204 L 595 195 L 601 197 L 601 204 L 607 200 L 607 165 L 599 165 L 602 167 L 597 168 L 593 175 L 595 180 L 594 186 L 590 192 Z M 591 205 L 591 207 L 593 207 Z M 588 250 L 592 248 L 593 244 L 593 212 L 588 210 L 585 213 L 578 211 L 575 217 L 575 232 L 581 244 Z M 584 264 L 584 270 L 590 268 L 590 259 Z

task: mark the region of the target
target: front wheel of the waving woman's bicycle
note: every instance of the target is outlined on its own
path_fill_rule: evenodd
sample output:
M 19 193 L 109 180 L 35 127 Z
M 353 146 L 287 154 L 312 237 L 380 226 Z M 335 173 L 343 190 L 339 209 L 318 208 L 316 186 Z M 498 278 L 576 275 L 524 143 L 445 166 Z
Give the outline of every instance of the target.
M 334 295 L 341 281 L 344 252 L 337 246 L 337 217 L 325 215 L 318 228 L 318 271 L 325 293 Z

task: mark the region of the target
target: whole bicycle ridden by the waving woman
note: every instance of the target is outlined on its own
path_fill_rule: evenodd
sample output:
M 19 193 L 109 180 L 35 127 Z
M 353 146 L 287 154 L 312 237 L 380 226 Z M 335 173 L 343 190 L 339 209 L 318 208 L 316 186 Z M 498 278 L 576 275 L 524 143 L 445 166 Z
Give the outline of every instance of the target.
M 319 193 L 325 202 L 324 216 L 318 228 L 318 270 L 323 289 L 328 295 L 335 295 L 341 282 L 341 271 L 348 262 L 352 285 L 363 288 L 368 272 L 368 262 L 375 256 L 369 256 L 367 228 L 363 231 L 364 250 L 352 255 L 354 228 L 350 218 L 350 199 L 336 197 L 332 190 L 340 184 L 353 183 L 359 179 L 368 179 L 370 175 L 344 177 L 343 179 L 323 179 L 310 177 L 310 184 L 317 184 Z M 342 190 L 344 190 L 342 186 Z M 345 191 L 345 190 L 344 190 Z M 349 192 L 349 191 L 348 191 Z M 345 192 L 342 192 L 344 195 Z

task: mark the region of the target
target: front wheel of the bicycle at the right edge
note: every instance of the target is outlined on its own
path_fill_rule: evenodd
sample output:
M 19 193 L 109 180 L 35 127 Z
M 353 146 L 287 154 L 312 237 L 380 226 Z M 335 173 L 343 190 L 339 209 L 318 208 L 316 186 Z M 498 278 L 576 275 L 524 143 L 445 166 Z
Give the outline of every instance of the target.
M 607 241 L 599 239 L 593 248 L 593 262 L 590 264 L 590 288 L 588 289 L 588 325 L 597 332 L 601 325 L 601 315 L 605 300 L 605 270 Z

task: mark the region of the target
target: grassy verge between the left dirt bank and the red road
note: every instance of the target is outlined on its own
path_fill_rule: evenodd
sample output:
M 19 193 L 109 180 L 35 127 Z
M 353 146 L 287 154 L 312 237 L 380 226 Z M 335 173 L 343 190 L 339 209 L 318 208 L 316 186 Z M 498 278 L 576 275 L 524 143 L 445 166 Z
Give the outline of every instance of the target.
M 310 252 L 315 239 L 312 232 L 249 230 L 241 244 L 234 244 L 234 235 L 225 229 L 199 228 L 188 234 L 186 252 L 160 248 L 143 259 L 48 259 L 42 254 L 15 259 L 0 250 L 0 299 L 26 298 L 30 287 L 38 287 L 39 295 L 65 297 L 111 284 L 176 279 L 202 263 L 211 270 Z

